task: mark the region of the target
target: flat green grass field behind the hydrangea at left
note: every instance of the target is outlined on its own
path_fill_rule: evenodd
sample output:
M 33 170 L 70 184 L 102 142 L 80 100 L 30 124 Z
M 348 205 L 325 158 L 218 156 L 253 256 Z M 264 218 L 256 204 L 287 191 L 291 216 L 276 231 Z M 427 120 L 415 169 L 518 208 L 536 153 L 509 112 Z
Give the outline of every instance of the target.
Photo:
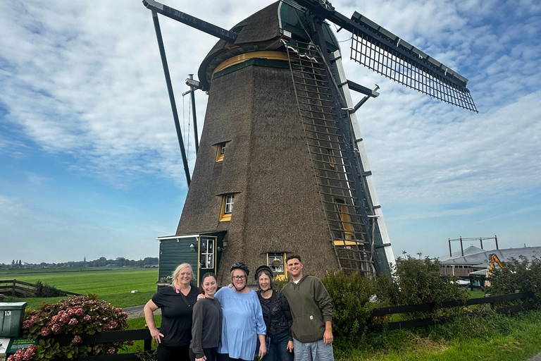
M 75 293 L 94 293 L 115 307 L 144 305 L 156 293 L 158 269 L 100 267 L 75 269 L 0 269 L 0 279 L 18 279 L 30 283 L 42 281 L 49 286 Z M 131 293 L 137 290 L 137 293 Z M 30 308 L 56 298 L 8 298 L 7 302 L 27 302 Z

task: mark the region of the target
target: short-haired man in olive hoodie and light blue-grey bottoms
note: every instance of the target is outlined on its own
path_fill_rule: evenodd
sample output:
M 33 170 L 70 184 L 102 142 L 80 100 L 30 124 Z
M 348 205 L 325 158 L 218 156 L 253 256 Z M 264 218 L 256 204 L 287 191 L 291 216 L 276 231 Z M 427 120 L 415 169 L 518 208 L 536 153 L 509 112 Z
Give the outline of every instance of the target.
M 286 259 L 291 281 L 282 288 L 293 316 L 295 361 L 334 361 L 332 302 L 320 279 L 304 276 L 299 255 Z

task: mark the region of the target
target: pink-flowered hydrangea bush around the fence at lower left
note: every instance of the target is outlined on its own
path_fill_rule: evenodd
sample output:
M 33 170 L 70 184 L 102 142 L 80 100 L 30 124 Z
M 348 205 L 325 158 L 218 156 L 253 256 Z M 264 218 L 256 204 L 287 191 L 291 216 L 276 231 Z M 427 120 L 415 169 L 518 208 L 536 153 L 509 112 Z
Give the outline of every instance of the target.
M 52 305 L 43 304 L 37 310 L 27 310 L 23 321 L 24 338 L 39 338 L 37 346 L 18 350 L 6 361 L 42 361 L 54 358 L 74 358 L 117 353 L 127 343 L 97 343 L 84 345 L 82 334 L 122 330 L 128 327 L 128 314 L 112 307 L 97 296 L 75 296 Z M 70 335 L 70 345 L 61 346 L 54 336 Z

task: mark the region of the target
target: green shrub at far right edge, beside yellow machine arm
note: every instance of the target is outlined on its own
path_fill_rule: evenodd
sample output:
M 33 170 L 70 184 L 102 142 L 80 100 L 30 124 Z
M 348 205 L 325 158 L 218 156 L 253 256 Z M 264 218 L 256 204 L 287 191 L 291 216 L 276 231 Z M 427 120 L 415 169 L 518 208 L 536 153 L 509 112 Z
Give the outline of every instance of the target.
M 519 259 L 510 258 L 502 262 L 504 268 L 496 268 L 490 278 L 490 287 L 485 290 L 492 295 L 506 295 L 532 291 L 534 300 L 541 302 L 541 259 L 533 257 L 532 260 L 524 256 Z

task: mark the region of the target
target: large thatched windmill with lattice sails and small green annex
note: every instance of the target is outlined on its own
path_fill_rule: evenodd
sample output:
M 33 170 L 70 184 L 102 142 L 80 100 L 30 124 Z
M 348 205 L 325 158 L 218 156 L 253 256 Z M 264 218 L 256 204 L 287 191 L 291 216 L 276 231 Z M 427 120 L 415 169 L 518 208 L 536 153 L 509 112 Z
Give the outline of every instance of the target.
M 328 22 L 352 33 L 349 56 L 406 87 L 477 111 L 468 80 L 359 13 L 282 0 L 225 30 L 154 0 L 152 11 L 189 190 L 175 235 L 160 237 L 160 276 L 180 261 L 201 276 L 288 254 L 309 271 L 389 274 L 394 262 L 355 111 L 378 90 L 347 80 Z M 193 178 L 185 160 L 158 14 L 219 40 L 192 94 L 209 94 Z M 353 104 L 350 90 L 364 95 Z

